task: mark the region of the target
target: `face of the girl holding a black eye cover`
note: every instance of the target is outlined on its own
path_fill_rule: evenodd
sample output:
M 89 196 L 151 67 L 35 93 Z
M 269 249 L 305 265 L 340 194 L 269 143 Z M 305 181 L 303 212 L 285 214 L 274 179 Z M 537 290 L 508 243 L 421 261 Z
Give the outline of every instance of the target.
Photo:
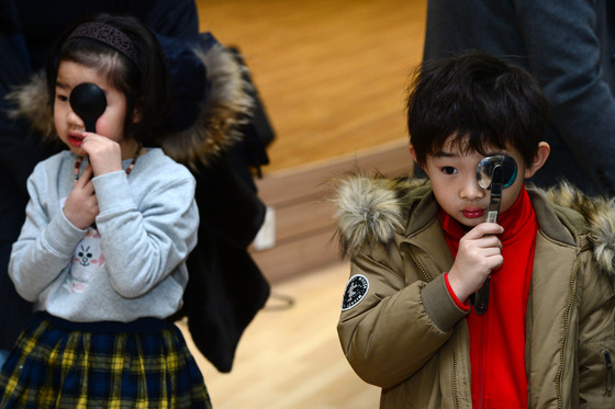
M 97 84 L 107 96 L 107 109 L 96 123 L 96 133 L 120 144 L 122 159 L 134 154 L 135 141 L 124 138 L 126 118 L 126 96 L 111 87 L 104 75 L 81 64 L 60 61 L 54 96 L 54 123 L 59 138 L 78 156 L 85 156 L 81 148 L 86 124 L 70 107 L 69 96 L 72 89 L 80 83 Z

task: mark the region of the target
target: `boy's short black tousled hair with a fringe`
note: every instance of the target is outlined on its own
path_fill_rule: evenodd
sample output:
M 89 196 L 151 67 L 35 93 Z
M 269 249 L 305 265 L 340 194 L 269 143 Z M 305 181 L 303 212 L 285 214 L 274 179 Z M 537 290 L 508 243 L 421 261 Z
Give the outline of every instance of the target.
M 406 109 L 420 166 L 449 137 L 462 152 L 514 147 L 528 164 L 548 121 L 548 103 L 536 79 L 481 52 L 423 63 Z

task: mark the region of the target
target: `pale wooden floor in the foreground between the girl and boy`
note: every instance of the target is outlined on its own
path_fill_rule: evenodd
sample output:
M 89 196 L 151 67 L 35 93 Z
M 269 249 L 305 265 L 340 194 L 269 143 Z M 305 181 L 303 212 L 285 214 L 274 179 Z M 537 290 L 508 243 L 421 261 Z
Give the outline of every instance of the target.
M 339 264 L 276 284 L 275 296 L 244 333 L 230 374 L 194 353 L 214 408 L 378 407 L 380 389 L 353 372 L 337 339 L 348 272 Z M 294 304 L 288 308 L 277 295 Z

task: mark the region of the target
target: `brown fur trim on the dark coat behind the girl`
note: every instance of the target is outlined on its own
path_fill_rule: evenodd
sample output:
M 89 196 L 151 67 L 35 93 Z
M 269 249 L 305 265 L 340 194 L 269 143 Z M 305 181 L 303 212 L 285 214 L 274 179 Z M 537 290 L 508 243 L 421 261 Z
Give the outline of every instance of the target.
M 193 101 L 198 104 L 199 112 L 191 124 L 182 124 L 180 129 L 169 130 L 160 140 L 160 147 L 168 156 L 191 168 L 195 168 L 199 162 L 206 164 L 210 159 L 237 141 L 241 137 L 237 127 L 248 121 L 254 105 L 247 92 L 251 86 L 244 79 L 244 70 L 247 68 L 210 33 L 202 34 L 201 39 L 198 46 L 186 46 L 188 53 L 193 53 L 189 56 L 192 58 L 188 65 L 191 66 L 190 69 L 204 66 L 202 72 L 206 72 L 204 89 L 198 90 L 203 98 L 201 101 Z M 174 45 L 177 46 L 177 43 Z M 181 76 L 185 71 L 174 70 L 174 64 L 181 64 L 180 59 L 186 58 L 186 53 L 177 61 L 168 57 L 167 55 L 171 77 L 174 72 L 176 77 Z M 174 92 L 179 92 L 177 87 L 174 87 Z M 45 139 L 57 139 L 43 72 L 34 75 L 30 82 L 14 89 L 7 98 L 15 106 L 9 113 L 11 117 L 21 116 Z

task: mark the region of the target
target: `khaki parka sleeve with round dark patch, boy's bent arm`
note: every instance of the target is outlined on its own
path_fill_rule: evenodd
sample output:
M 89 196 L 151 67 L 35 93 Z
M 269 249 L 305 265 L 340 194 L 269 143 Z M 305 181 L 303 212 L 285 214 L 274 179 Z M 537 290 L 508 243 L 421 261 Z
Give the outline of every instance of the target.
M 347 286 L 337 328 L 355 372 L 367 383 L 383 388 L 413 376 L 449 340 L 449 323 L 466 316 L 450 298 L 441 274 L 433 282 L 406 283 L 401 255 L 390 254 L 400 259 L 391 262 L 387 257 L 361 254 L 353 259 L 349 283 L 362 276 L 367 291 L 349 306 Z M 441 300 L 446 307 L 438 308 L 438 316 L 446 319 L 436 322 L 427 306 Z

